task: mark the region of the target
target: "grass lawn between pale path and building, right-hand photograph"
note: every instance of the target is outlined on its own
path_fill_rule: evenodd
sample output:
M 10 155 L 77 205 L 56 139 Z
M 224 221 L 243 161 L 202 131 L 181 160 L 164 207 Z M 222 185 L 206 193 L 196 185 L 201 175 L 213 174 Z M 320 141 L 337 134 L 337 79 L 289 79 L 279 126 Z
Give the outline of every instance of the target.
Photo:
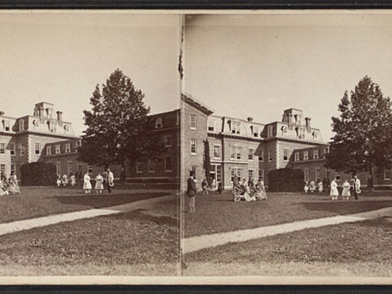
M 392 206 L 392 191 L 363 192 L 359 200 L 332 201 L 327 194 L 269 193 L 267 201 L 234 202 L 229 191 L 196 196 L 196 213 L 182 211 L 185 237 L 352 214 Z M 352 197 L 353 198 L 353 197 Z

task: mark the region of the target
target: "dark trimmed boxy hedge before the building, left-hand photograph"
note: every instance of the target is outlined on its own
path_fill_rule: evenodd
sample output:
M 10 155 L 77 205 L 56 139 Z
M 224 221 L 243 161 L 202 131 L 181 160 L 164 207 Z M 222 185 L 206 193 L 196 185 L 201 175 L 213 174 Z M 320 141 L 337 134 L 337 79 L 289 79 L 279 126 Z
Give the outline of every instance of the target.
M 56 166 L 52 163 L 32 162 L 21 166 L 22 186 L 53 186 L 56 184 Z

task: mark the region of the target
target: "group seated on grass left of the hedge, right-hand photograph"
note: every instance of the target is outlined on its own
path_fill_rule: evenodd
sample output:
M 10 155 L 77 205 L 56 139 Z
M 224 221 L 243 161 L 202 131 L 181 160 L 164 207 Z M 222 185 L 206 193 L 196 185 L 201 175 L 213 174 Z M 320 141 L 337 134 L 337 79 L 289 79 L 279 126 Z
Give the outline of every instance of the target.
M 263 179 L 259 179 L 255 184 L 252 178 L 248 181 L 243 179 L 240 183 L 240 178 L 233 177 L 233 196 L 234 201 L 256 201 L 256 200 L 267 200 L 267 193 L 264 187 Z

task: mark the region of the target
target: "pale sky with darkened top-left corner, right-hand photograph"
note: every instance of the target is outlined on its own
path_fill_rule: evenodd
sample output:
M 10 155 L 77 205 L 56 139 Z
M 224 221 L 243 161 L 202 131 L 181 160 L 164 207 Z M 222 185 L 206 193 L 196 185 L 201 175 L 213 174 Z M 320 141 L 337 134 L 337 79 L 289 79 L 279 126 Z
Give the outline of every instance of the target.
M 183 91 L 261 123 L 300 108 L 329 141 L 344 91 L 362 77 L 392 96 L 392 14 L 305 13 L 187 16 Z

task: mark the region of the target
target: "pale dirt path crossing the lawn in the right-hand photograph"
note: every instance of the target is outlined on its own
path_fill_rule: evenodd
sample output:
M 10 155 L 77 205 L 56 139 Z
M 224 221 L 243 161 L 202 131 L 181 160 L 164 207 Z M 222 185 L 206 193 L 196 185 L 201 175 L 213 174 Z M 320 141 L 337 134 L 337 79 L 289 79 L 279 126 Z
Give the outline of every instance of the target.
M 189 253 L 204 248 L 224 245 L 227 243 L 244 242 L 248 240 L 273 236 L 277 234 L 290 233 L 308 228 L 339 224 L 343 222 L 377 219 L 385 216 L 392 216 L 392 207 L 386 207 L 378 210 L 351 215 L 321 218 L 307 221 L 295 221 L 265 227 L 258 227 L 254 229 L 190 237 L 181 240 L 181 248 L 183 253 Z

